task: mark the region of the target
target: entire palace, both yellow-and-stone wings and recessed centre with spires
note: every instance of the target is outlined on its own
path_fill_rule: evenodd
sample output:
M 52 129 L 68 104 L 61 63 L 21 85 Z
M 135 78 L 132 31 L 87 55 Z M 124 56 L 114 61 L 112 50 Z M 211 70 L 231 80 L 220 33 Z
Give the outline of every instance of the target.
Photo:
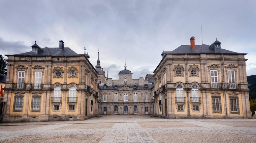
M 164 51 L 153 74 L 133 79 L 127 69 L 108 78 L 89 55 L 64 47 L 6 55 L 4 123 L 86 120 L 98 115 L 154 115 L 167 119 L 249 118 L 244 53 L 212 45 Z

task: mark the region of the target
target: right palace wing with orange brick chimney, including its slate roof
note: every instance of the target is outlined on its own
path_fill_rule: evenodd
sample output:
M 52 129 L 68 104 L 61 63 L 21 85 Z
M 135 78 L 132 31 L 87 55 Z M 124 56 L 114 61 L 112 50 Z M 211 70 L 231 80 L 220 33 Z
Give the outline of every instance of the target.
M 212 45 L 163 52 L 154 71 L 155 115 L 162 118 L 252 118 L 243 53 Z

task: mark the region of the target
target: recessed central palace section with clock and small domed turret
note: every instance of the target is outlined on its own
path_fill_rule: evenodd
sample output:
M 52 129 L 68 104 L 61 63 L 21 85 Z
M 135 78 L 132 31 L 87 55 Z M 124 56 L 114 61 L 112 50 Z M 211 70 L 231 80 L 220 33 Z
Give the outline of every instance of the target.
M 99 84 L 99 115 L 153 115 L 153 74 L 132 79 L 132 72 L 119 72 L 119 80 L 107 78 Z

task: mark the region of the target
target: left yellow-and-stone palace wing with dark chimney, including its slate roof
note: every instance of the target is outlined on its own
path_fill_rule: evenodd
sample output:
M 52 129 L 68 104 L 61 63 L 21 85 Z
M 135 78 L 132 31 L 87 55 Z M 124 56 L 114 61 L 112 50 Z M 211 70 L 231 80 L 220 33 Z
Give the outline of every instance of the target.
M 85 120 L 97 109 L 97 71 L 87 54 L 40 48 L 8 57 L 3 122 Z

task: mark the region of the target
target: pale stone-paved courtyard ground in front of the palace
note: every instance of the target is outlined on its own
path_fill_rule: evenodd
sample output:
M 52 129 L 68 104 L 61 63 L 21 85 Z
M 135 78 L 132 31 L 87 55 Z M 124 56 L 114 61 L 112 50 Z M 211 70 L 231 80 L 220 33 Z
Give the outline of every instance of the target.
M 28 135 L 83 136 L 92 134 L 103 135 L 103 137 L 99 136 L 99 141 L 97 141 L 100 143 L 241 142 L 237 139 L 243 139 L 242 142 L 254 142 L 256 140 L 256 119 L 169 120 L 150 116 L 116 115 L 85 121 L 0 124 L 0 142 Z M 206 139 L 206 136 L 210 139 Z M 212 140 L 213 137 L 215 140 Z M 41 142 L 44 141 L 41 140 Z

